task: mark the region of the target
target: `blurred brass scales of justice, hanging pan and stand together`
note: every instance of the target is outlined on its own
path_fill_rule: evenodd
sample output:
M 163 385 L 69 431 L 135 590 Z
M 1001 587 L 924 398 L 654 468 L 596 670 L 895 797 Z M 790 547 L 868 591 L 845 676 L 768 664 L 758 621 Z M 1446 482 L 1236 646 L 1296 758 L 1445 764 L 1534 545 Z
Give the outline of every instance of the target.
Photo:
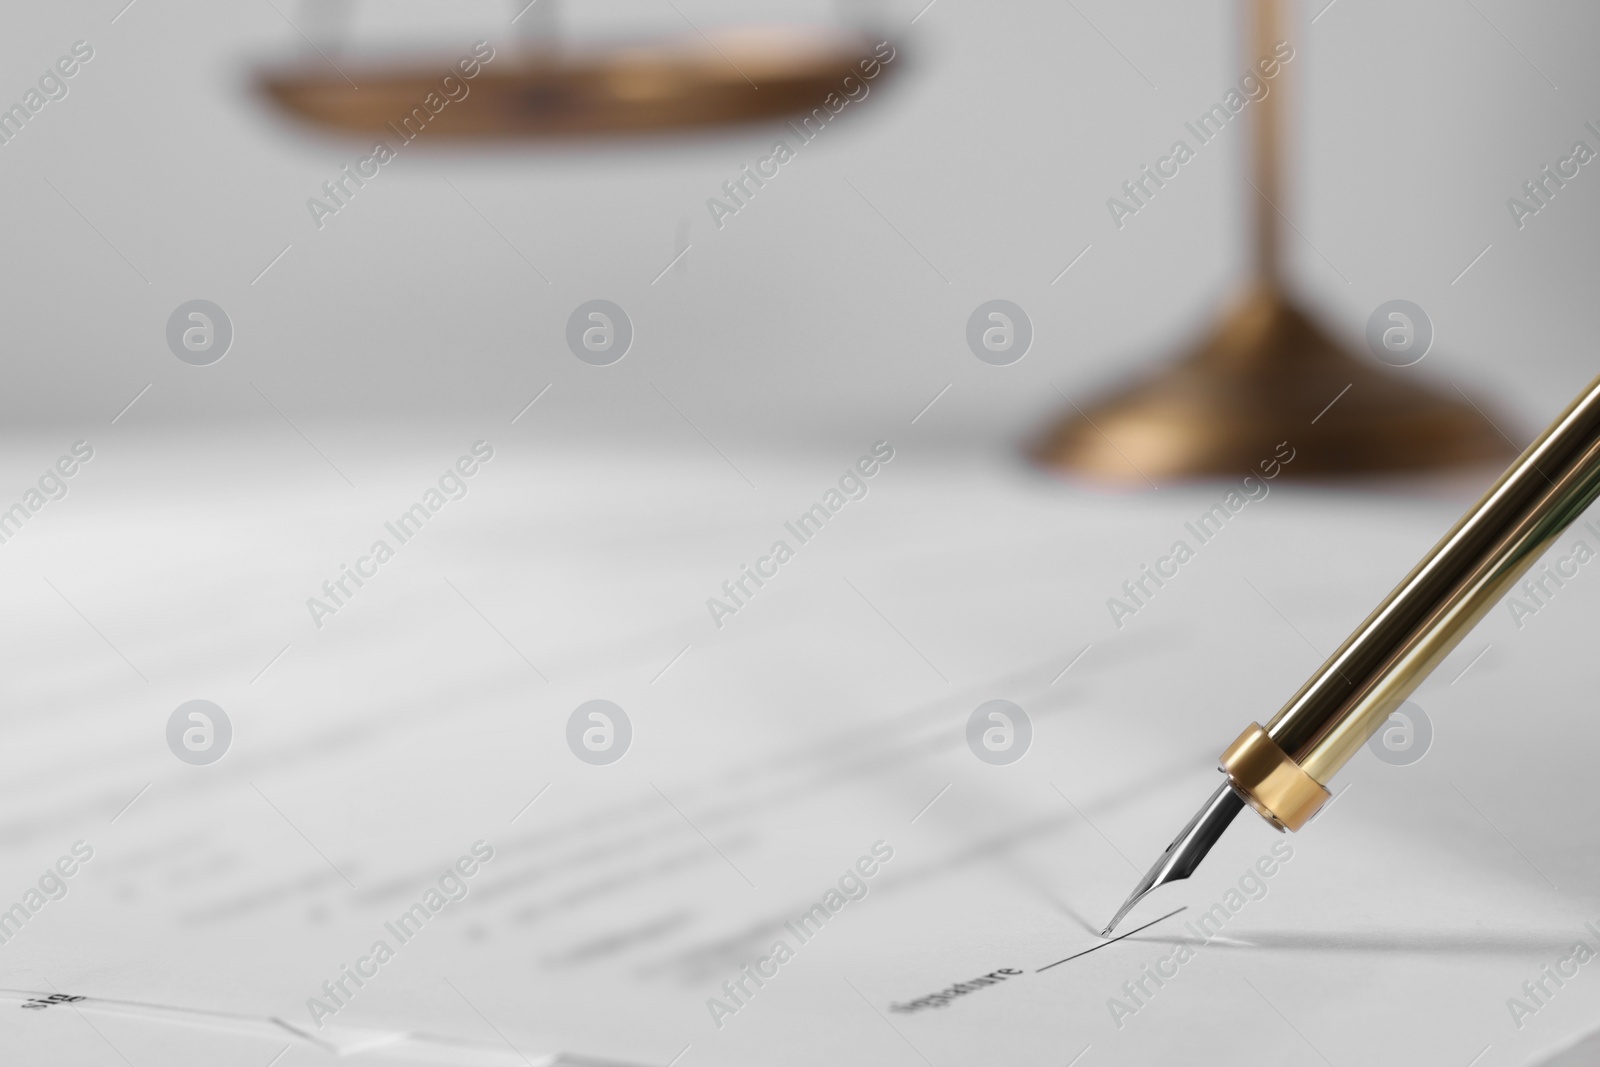
M 346 11 L 350 0 L 314 0 Z M 877 35 L 835 27 L 746 27 L 574 46 L 558 0 L 520 3 L 522 46 L 474 83 L 469 101 L 430 125 L 450 139 L 515 141 L 693 133 L 806 114 L 870 59 Z M 1282 0 L 1253 5 L 1256 54 L 1282 32 Z M 896 64 L 899 69 L 904 64 Z M 366 134 L 408 110 L 440 59 L 365 61 L 307 54 L 262 69 L 258 86 L 310 125 Z M 885 67 L 885 70 L 888 70 Z M 1381 475 L 1504 462 L 1512 448 L 1466 397 L 1352 354 L 1290 294 L 1282 262 L 1283 80 L 1254 112 L 1254 277 L 1176 363 L 1069 413 L 1032 448 L 1069 475 L 1144 485 L 1232 477 L 1282 440 L 1294 477 Z M 357 88 L 357 85 L 360 88 Z M 1318 418 L 1339 397 L 1336 414 Z

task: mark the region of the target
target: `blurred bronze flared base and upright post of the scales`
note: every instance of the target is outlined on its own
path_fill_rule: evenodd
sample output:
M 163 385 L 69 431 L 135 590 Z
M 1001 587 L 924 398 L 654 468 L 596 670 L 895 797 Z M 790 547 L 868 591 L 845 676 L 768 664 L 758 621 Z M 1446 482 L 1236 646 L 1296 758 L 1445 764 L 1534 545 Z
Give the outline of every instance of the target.
M 1283 40 L 1280 0 L 1253 3 L 1254 54 L 1267 56 Z M 1286 80 L 1280 72 L 1250 106 L 1254 282 L 1178 363 L 1051 427 L 1032 448 L 1038 462 L 1144 485 L 1238 477 L 1285 440 L 1298 451 L 1283 469 L 1294 478 L 1510 459 L 1514 450 L 1472 403 L 1352 354 L 1290 296 L 1280 262 Z

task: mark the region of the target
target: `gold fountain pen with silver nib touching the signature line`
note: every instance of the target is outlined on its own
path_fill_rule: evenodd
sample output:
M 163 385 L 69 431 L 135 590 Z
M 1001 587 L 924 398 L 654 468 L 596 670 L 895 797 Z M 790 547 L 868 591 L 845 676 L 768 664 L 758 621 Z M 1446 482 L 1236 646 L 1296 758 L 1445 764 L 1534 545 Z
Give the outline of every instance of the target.
M 1102 937 L 1150 889 L 1187 878 L 1251 806 L 1299 830 L 1328 782 L 1600 496 L 1600 378 L 1512 462 L 1266 726 L 1222 752 L 1227 779 L 1166 846 Z

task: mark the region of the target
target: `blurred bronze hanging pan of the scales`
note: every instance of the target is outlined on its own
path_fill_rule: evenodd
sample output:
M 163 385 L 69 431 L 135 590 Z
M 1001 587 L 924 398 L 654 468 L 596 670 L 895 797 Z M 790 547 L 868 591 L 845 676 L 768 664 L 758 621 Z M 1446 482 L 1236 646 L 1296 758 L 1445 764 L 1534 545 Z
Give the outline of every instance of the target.
M 427 139 L 622 134 L 806 115 L 830 93 L 843 98 L 845 77 L 862 80 L 859 64 L 872 64 L 874 88 L 904 66 L 885 61 L 893 51 L 875 54 L 875 45 L 877 38 L 853 32 L 787 27 L 605 50 L 549 43 L 485 66 L 466 98 L 430 117 Z M 438 91 L 450 62 L 362 67 L 341 59 L 341 74 L 307 61 L 264 70 L 258 80 L 298 118 L 382 136 L 386 123 L 398 123 Z

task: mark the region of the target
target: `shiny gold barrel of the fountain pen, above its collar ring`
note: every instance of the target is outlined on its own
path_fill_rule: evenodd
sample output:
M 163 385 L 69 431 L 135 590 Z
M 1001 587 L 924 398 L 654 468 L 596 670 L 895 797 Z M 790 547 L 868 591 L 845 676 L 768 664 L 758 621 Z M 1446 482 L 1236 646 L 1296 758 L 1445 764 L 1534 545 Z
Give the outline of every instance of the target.
M 1267 736 L 1326 784 L 1595 498 L 1600 378 L 1301 686 Z

